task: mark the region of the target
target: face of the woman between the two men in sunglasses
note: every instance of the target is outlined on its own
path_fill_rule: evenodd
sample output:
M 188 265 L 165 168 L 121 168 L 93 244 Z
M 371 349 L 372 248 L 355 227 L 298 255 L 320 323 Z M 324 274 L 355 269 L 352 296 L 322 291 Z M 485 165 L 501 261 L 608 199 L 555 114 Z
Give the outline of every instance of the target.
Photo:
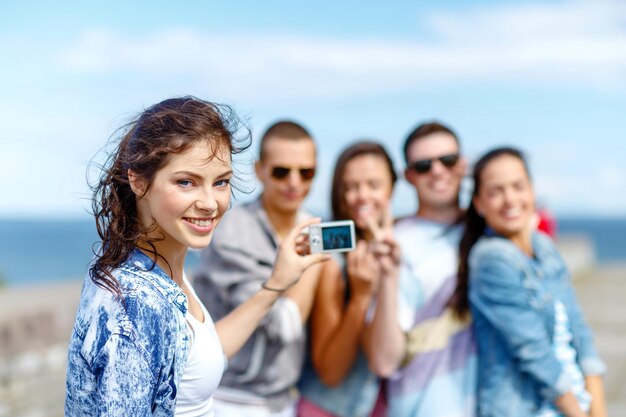
M 393 185 L 389 167 L 378 155 L 361 155 L 346 164 L 343 173 L 345 205 L 356 227 L 366 229 L 366 219 L 382 221 Z

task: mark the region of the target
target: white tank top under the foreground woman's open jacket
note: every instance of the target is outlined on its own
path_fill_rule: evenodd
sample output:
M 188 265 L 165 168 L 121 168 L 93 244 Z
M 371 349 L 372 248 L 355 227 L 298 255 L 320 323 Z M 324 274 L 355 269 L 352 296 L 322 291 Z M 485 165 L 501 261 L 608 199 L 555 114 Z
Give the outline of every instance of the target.
M 211 316 L 191 285 L 187 285 L 202 307 L 204 323 L 187 312 L 193 338 L 178 387 L 176 417 L 213 417 L 213 392 L 222 379 L 226 358 Z

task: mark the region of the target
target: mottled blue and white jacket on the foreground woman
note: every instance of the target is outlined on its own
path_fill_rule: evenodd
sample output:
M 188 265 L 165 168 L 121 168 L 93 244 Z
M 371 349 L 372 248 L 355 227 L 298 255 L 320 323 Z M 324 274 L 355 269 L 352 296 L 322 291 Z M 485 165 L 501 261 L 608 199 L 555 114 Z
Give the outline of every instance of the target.
M 85 279 L 70 340 L 66 416 L 173 416 L 190 347 L 187 297 L 139 250 L 113 271 L 124 305 Z

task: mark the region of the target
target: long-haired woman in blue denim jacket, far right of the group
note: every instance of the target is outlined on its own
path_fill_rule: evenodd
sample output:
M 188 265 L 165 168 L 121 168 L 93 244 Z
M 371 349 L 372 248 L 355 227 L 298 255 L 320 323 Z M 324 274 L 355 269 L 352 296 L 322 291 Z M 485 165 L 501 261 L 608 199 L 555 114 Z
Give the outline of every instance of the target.
M 474 320 L 479 416 L 606 416 L 604 364 L 563 259 L 534 230 L 523 155 L 494 149 L 473 176 L 453 306 Z

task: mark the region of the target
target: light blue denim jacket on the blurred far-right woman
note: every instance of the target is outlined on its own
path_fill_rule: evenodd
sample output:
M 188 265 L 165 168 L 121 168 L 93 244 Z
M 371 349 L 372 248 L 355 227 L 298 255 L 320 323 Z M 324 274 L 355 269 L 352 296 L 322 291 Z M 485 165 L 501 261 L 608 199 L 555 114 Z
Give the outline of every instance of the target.
M 543 401 L 571 389 L 552 350 L 556 299 L 567 310 L 583 374 L 604 372 L 563 259 L 543 234 L 533 234 L 532 245 L 534 257 L 529 258 L 510 240 L 491 233 L 470 253 L 481 417 L 533 416 Z

